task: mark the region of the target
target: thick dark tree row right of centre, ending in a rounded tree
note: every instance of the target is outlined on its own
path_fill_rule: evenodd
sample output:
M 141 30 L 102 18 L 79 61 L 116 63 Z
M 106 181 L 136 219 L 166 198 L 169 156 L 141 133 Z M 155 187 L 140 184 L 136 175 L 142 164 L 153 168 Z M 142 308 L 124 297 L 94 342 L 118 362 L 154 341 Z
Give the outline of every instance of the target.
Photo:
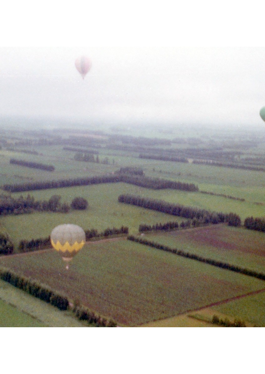
M 162 213 L 176 215 L 178 217 L 197 219 L 200 223 L 217 224 L 227 222 L 230 226 L 240 226 L 241 219 L 235 213 L 225 214 L 222 212 L 210 212 L 205 209 L 184 206 L 180 204 L 172 204 L 163 200 L 148 199 L 141 196 L 123 194 L 118 197 L 120 203 L 126 203 L 142 208 L 152 209 Z

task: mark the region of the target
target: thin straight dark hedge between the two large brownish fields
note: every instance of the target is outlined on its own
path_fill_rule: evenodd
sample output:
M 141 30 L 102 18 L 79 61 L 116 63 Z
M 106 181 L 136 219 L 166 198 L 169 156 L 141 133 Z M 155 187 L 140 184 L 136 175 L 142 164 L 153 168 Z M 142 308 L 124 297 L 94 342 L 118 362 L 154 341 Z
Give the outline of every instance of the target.
M 155 242 L 152 242 L 152 241 L 146 240 L 146 239 L 141 239 L 140 237 L 135 237 L 133 235 L 128 236 L 127 239 L 131 240 L 133 242 L 136 242 L 136 243 L 140 243 L 140 244 L 143 244 L 143 245 L 150 246 L 152 248 L 161 249 L 162 251 L 171 252 L 171 253 L 176 254 L 178 256 L 190 258 L 192 260 L 200 261 L 200 262 L 203 262 L 205 264 L 220 267 L 221 269 L 230 270 L 230 271 L 235 272 L 235 273 L 248 275 L 248 276 L 251 276 L 251 277 L 254 277 L 254 278 L 262 279 L 262 281 L 265 281 L 265 274 L 264 273 L 258 273 L 258 272 L 255 272 L 254 270 L 245 269 L 245 268 L 242 268 L 240 266 L 231 265 L 231 264 L 228 264 L 228 263 L 224 263 L 222 261 L 212 260 L 211 258 L 205 258 L 205 257 L 199 256 L 199 255 L 194 254 L 194 253 L 184 252 L 181 249 L 170 248 L 166 245 L 155 243 Z

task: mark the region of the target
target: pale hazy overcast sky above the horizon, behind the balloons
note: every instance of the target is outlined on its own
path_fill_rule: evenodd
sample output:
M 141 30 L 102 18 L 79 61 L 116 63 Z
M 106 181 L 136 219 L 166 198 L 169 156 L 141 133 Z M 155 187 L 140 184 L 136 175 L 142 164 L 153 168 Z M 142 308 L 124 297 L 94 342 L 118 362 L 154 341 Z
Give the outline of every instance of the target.
M 124 126 L 262 126 L 254 47 L 1 47 L 0 117 Z M 85 79 L 74 61 L 87 55 Z

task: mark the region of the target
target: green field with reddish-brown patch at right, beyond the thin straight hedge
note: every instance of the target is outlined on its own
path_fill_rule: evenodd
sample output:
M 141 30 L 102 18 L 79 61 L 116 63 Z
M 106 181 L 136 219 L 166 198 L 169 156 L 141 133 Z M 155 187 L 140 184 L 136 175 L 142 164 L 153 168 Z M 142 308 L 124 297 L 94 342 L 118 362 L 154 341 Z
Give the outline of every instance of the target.
M 145 234 L 146 239 L 265 273 L 265 234 L 224 224 L 169 233 Z

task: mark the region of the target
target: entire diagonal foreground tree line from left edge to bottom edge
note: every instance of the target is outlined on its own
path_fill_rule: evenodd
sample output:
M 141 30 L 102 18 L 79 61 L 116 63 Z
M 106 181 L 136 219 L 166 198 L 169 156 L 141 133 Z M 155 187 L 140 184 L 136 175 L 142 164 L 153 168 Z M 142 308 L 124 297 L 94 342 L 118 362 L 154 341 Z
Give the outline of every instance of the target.
M 12 270 L 0 268 L 0 279 L 10 283 L 16 288 L 45 301 L 60 310 L 70 310 L 80 321 L 87 321 L 89 324 L 95 324 L 96 327 L 116 327 L 117 324 L 112 319 L 101 317 L 95 312 L 75 302 L 73 308 L 66 295 L 54 291 L 48 285 L 40 283 L 37 280 L 27 278 L 23 275 L 16 274 Z

